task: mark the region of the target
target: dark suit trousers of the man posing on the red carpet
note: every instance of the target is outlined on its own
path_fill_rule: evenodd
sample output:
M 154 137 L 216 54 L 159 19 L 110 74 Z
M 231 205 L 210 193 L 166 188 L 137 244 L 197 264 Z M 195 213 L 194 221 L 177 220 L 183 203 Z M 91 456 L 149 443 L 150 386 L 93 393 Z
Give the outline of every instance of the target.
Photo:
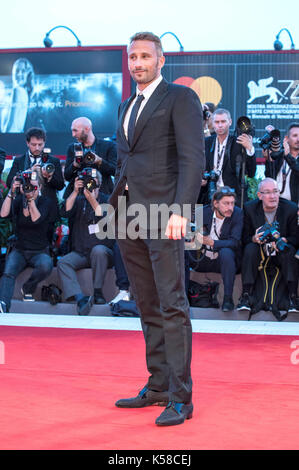
M 141 314 L 147 386 L 169 391 L 170 400 L 192 397 L 192 327 L 184 285 L 184 240 L 118 239 Z

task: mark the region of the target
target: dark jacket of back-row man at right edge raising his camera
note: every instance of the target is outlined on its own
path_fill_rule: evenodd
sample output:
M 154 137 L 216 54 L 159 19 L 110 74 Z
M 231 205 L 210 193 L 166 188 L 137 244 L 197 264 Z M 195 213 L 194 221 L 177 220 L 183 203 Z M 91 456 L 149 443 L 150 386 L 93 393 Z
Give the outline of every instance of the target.
M 284 156 L 284 153 L 281 153 L 281 156 L 274 160 L 273 162 L 269 162 L 266 160 L 265 164 L 265 176 L 269 178 L 276 179 L 277 175 L 282 167 L 283 161 L 286 160 L 287 164 L 291 169 L 290 174 L 290 192 L 291 192 L 291 199 L 293 202 L 298 204 L 299 202 L 299 158 L 294 158 L 292 155 Z

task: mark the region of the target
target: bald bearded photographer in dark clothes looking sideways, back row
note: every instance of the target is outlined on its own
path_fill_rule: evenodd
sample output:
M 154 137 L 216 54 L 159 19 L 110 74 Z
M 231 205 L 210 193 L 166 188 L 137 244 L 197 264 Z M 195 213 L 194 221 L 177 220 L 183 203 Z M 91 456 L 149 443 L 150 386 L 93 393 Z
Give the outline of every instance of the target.
M 77 143 L 70 144 L 67 149 L 64 177 L 66 181 L 69 181 L 69 184 L 65 190 L 64 198 L 67 199 L 73 191 L 78 172 L 87 166 L 95 168 L 101 173 L 103 181 L 101 191 L 105 194 L 111 194 L 113 190 L 112 176 L 115 174 L 117 158 L 115 143 L 95 137 L 91 121 L 86 117 L 75 119 L 72 122 L 71 130 Z

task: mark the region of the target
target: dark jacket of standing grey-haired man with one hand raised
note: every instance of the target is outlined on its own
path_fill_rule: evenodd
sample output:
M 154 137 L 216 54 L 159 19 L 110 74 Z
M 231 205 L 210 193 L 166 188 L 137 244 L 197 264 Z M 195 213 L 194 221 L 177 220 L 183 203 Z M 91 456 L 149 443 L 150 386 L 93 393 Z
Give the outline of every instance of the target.
M 206 171 L 210 172 L 214 168 L 214 152 L 216 145 L 217 135 L 214 134 L 205 139 L 205 153 L 206 153 Z M 236 137 L 229 135 L 227 145 L 225 148 L 223 167 L 222 167 L 222 179 L 225 186 L 234 188 L 237 194 L 237 202 L 240 204 L 241 200 L 241 179 L 242 179 L 242 146 L 237 144 Z M 253 178 L 256 172 L 256 158 L 255 155 L 252 157 L 248 156 L 245 151 L 245 174 L 250 178 Z M 208 204 L 207 200 L 207 189 L 208 186 L 204 186 L 201 190 L 200 201 L 203 204 Z M 248 200 L 247 191 L 244 194 L 244 200 Z

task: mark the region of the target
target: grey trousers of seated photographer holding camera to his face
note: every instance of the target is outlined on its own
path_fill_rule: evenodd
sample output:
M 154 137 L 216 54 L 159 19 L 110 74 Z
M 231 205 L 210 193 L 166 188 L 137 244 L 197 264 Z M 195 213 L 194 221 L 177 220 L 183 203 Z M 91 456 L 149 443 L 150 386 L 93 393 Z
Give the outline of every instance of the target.
M 113 251 L 105 245 L 96 245 L 89 255 L 71 251 L 60 258 L 57 273 L 65 299 L 81 293 L 76 271 L 84 268 L 92 269 L 93 287 L 101 289 L 104 284 L 107 269 L 113 265 Z

